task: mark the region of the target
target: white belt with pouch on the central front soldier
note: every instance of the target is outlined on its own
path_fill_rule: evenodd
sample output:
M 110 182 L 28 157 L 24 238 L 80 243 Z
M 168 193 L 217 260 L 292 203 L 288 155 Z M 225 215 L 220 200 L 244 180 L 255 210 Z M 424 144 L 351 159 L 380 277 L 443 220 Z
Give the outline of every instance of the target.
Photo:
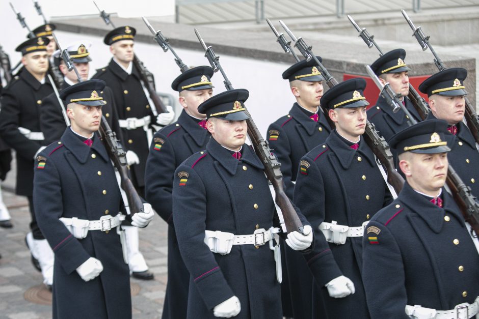
M 233 245 L 263 246 L 273 239 L 274 234 L 280 231 L 280 228 L 275 227 L 268 230 L 259 228 L 252 235 L 234 235 L 221 230 L 205 230 L 204 243 L 212 252 L 225 255 L 231 252 Z

